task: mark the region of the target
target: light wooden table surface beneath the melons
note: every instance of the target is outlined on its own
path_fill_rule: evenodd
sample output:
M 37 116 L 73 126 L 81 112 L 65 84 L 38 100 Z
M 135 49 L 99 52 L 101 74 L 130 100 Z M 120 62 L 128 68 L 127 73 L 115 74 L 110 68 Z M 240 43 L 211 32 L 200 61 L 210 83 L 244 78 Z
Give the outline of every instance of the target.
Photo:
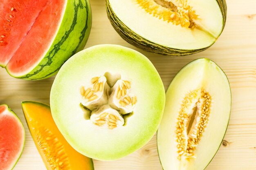
M 208 57 L 225 71 L 232 91 L 231 118 L 225 141 L 207 170 L 256 170 L 256 1 L 227 0 L 227 23 L 219 40 L 208 50 L 186 57 L 166 57 L 131 46 L 112 28 L 105 0 L 90 2 L 93 23 L 85 48 L 96 44 L 120 44 L 135 49 L 153 62 L 165 88 L 182 66 L 199 57 Z M 27 128 L 20 102 L 34 100 L 49 104 L 53 80 L 54 77 L 33 82 L 15 79 L 0 68 L 0 104 L 8 104 L 26 130 L 25 149 L 14 170 L 46 170 Z M 123 159 L 94 160 L 94 166 L 95 170 L 162 170 L 156 137 Z

